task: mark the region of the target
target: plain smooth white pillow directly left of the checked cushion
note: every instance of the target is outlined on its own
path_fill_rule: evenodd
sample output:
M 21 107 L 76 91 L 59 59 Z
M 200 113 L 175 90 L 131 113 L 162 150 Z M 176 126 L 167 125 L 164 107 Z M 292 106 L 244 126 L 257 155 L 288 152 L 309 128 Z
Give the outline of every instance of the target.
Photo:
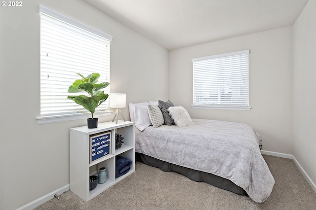
M 148 108 L 144 105 L 135 105 L 135 126 L 138 130 L 143 131 L 145 128 L 152 125 L 149 115 Z

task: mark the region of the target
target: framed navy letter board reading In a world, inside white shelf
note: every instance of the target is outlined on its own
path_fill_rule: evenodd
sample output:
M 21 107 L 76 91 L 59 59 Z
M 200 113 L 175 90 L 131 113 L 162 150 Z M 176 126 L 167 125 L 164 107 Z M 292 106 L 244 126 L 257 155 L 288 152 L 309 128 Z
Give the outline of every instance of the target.
M 111 154 L 111 131 L 90 136 L 90 164 Z

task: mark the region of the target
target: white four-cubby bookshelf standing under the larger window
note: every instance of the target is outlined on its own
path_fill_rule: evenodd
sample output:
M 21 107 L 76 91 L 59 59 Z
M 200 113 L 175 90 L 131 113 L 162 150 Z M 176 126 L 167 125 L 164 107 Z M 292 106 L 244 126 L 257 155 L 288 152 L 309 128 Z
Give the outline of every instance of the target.
M 101 157 L 90 164 L 90 136 L 107 131 L 111 132 L 110 155 Z M 115 149 L 116 134 L 124 137 L 124 143 L 118 149 Z M 134 122 L 119 120 L 118 124 L 115 122 L 99 123 L 98 128 L 93 129 L 88 129 L 87 126 L 71 128 L 69 146 L 70 190 L 85 201 L 89 201 L 135 171 Z M 115 176 L 115 157 L 117 155 L 132 161 L 129 172 L 118 178 Z M 97 175 L 102 167 L 106 168 L 107 181 L 97 184 L 96 188 L 89 190 L 89 176 Z

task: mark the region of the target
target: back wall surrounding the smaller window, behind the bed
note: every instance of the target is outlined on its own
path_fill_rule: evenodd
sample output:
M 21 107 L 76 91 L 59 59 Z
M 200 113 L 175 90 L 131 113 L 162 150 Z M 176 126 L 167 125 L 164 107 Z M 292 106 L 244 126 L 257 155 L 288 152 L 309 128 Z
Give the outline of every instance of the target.
M 250 49 L 250 111 L 193 109 L 192 58 Z M 292 28 L 239 36 L 169 52 L 169 99 L 192 118 L 242 122 L 263 139 L 263 149 L 293 153 Z

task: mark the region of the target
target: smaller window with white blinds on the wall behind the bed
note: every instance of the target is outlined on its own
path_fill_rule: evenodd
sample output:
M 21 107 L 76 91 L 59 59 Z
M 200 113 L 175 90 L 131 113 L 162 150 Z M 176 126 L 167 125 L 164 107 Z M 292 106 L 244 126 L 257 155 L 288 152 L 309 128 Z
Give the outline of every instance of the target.
M 194 108 L 249 110 L 249 50 L 192 59 Z

